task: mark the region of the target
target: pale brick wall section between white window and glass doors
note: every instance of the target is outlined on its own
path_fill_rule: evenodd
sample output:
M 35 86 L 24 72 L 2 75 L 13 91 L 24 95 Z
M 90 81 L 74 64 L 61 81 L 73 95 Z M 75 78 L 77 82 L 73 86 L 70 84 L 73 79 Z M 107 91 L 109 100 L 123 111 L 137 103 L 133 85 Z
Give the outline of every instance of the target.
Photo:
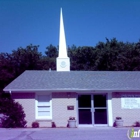
M 57 127 L 67 127 L 70 116 L 77 119 L 76 97 L 76 93 L 52 93 L 52 121 Z M 74 106 L 74 110 L 67 110 L 69 105 Z

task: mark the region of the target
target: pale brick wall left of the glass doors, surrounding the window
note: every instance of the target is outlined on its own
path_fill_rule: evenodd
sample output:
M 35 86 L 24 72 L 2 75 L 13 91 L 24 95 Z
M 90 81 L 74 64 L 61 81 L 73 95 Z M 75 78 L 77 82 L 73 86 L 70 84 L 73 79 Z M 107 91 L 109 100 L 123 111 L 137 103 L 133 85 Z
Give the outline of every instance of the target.
M 13 99 L 19 102 L 26 114 L 27 127 L 32 126 L 33 121 L 39 122 L 40 127 L 51 127 L 55 122 L 57 127 L 67 127 L 67 120 L 70 116 L 77 118 L 76 93 L 52 93 L 52 120 L 35 119 L 35 93 L 12 93 Z M 74 106 L 74 110 L 67 110 L 67 106 Z

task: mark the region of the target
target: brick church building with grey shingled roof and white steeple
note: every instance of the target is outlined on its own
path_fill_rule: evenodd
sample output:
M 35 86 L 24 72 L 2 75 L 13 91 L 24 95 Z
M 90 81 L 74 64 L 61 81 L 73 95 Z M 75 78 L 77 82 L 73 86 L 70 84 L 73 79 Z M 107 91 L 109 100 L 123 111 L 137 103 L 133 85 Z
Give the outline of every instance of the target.
M 26 70 L 3 90 L 19 102 L 27 127 L 109 126 L 122 117 L 124 126 L 140 121 L 140 72 L 71 71 L 67 55 L 62 9 L 56 71 Z

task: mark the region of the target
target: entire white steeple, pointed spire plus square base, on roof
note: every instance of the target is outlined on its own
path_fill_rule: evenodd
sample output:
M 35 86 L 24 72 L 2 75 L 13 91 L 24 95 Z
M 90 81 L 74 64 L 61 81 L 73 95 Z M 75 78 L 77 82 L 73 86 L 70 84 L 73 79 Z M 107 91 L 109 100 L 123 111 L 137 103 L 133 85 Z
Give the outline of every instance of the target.
M 56 63 L 57 63 L 57 71 L 70 71 L 70 59 L 67 56 L 67 46 L 66 46 L 62 8 L 60 10 L 59 53 Z

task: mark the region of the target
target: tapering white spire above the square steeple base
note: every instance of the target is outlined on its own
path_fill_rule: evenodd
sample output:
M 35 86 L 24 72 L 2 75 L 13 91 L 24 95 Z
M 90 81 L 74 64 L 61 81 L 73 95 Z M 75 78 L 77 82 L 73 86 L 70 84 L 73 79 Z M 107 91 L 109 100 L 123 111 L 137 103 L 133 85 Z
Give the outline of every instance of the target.
M 65 30 L 63 23 L 63 14 L 62 8 L 60 10 L 60 33 L 59 33 L 59 58 L 67 58 L 67 46 L 66 46 L 66 38 L 65 38 Z

